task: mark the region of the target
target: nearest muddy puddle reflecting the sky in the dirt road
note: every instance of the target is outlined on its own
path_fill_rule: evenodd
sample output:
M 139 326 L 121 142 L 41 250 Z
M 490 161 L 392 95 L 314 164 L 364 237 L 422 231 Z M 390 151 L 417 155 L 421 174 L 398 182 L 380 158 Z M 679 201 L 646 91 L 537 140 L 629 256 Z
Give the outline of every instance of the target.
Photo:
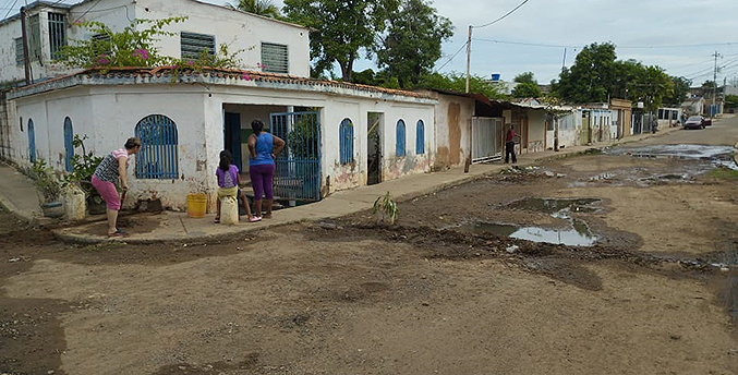
M 562 229 L 544 228 L 536 226 L 518 226 L 487 221 L 467 221 L 447 229 L 472 234 L 495 234 L 518 240 L 564 244 L 569 246 L 591 246 L 598 237 L 590 231 L 585 221 L 571 217 L 571 213 L 593 213 L 597 209 L 594 198 L 524 198 L 515 201 L 507 206 L 509 209 L 523 209 L 551 215 L 568 221 Z

